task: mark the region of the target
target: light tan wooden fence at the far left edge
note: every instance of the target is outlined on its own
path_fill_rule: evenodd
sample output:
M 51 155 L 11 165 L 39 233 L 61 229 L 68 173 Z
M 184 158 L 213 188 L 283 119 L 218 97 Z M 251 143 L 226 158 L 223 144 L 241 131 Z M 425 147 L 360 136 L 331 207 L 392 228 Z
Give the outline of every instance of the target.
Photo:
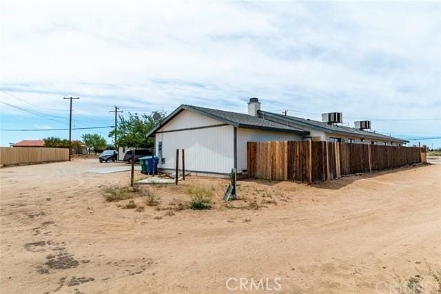
M 0 147 L 0 165 L 69 160 L 69 149 L 46 147 Z

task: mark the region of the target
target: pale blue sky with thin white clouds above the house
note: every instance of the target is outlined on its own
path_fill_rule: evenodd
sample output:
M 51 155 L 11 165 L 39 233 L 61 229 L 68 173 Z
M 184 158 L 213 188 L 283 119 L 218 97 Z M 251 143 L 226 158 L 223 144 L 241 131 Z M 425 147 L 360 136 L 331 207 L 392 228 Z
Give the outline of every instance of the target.
M 0 145 L 183 103 L 441 137 L 441 2 L 1 1 Z M 106 136 L 110 129 L 75 130 Z M 111 139 L 107 139 L 109 143 Z M 417 141 L 412 141 L 418 144 Z M 441 140 L 421 140 L 441 147 Z

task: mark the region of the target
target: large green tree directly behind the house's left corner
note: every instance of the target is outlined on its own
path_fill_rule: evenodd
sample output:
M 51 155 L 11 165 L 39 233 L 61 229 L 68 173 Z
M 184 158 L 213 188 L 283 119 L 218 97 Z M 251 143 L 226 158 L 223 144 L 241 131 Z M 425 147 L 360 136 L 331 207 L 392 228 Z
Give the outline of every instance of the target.
M 116 131 L 117 145 L 135 148 L 150 148 L 154 145 L 153 138 L 147 138 L 147 133 L 159 125 L 165 118 L 161 112 L 151 114 L 130 113 L 129 117 L 119 116 L 118 129 Z M 115 130 L 109 133 L 109 138 L 114 138 Z

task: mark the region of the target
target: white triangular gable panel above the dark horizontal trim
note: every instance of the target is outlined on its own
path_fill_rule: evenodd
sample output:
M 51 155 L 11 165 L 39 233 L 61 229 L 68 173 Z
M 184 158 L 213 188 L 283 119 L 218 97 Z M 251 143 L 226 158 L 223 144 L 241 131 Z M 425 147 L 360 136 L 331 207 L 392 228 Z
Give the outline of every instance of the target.
M 209 118 L 208 116 L 183 110 L 161 129 L 158 129 L 157 132 L 170 131 L 171 129 L 185 129 L 187 127 L 204 127 L 207 125 L 218 125 L 220 123 L 222 122 Z

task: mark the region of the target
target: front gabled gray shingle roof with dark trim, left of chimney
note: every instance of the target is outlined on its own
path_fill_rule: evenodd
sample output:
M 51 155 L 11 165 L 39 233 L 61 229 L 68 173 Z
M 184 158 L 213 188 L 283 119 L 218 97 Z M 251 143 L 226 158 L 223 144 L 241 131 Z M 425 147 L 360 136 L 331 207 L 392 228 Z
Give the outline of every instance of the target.
M 181 105 L 176 110 L 174 110 L 174 112 L 172 112 L 169 116 L 167 116 L 167 118 L 163 120 L 161 125 L 158 125 L 158 127 L 152 129 L 152 131 L 150 131 L 150 133 L 147 134 L 147 136 L 152 136 L 152 134 L 156 133 L 156 131 L 159 128 L 161 128 L 169 120 L 174 118 L 174 116 L 176 116 L 178 113 L 180 113 L 183 110 L 188 110 L 191 112 L 196 112 L 198 114 L 209 116 L 211 118 L 220 120 L 221 122 L 227 123 L 228 125 L 232 125 L 234 127 L 242 127 L 245 129 L 263 129 L 273 132 L 287 132 L 287 133 L 295 133 L 300 135 L 309 134 L 309 132 L 303 129 L 298 129 L 296 127 L 289 127 L 287 125 L 275 123 L 271 120 L 266 120 L 256 116 L 250 116 L 248 114 L 240 114 L 238 112 L 227 112 L 225 110 L 205 108 L 194 105 Z

